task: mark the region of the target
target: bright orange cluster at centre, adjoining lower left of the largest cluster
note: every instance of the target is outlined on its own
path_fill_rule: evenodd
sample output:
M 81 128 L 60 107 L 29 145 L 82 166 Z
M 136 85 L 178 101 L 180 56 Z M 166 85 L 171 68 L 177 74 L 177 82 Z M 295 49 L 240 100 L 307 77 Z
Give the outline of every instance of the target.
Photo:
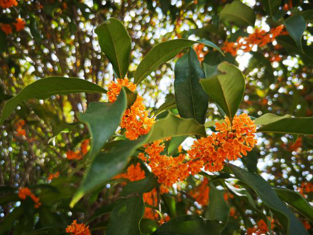
M 142 161 L 146 162 L 153 174 L 158 177 L 161 183 L 160 190 L 162 193 L 168 192 L 167 187 L 171 187 L 177 181 L 186 179 L 190 174 L 194 175 L 200 172 L 203 167 L 200 161 L 185 161 L 185 155 L 179 154 L 176 158 L 173 156 L 161 155 L 165 145 L 163 140 L 156 140 L 150 145 L 145 145 L 145 153 L 138 155 Z

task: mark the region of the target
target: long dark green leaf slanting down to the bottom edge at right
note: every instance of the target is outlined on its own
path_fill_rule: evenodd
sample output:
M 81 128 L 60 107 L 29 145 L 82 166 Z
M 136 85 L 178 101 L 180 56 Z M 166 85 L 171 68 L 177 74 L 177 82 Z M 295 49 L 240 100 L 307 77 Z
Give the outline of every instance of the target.
M 230 163 L 226 163 L 226 165 L 237 179 L 249 185 L 258 194 L 260 200 L 276 215 L 288 235 L 308 234 L 301 222 L 289 211 L 286 205 L 278 198 L 270 184 L 260 175 L 249 173 Z

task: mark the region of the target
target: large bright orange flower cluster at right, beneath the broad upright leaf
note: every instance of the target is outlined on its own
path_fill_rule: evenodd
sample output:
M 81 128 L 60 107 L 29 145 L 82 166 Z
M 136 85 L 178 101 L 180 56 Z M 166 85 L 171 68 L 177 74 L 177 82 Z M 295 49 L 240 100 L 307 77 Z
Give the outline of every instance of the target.
M 216 123 L 217 134 L 195 140 L 191 149 L 187 150 L 194 161 L 205 164 L 206 171 L 220 171 L 225 160 L 237 160 L 247 151 L 251 151 L 256 143 L 254 133 L 256 125 L 246 113 L 235 115 L 232 123 L 228 117 L 224 123 Z

